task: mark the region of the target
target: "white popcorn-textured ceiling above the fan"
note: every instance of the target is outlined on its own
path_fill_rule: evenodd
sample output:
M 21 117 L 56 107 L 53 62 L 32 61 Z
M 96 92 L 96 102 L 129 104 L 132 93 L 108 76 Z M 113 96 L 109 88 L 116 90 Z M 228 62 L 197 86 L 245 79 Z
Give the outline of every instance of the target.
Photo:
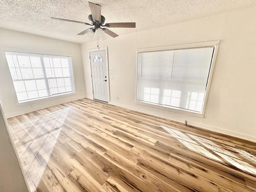
M 111 28 L 119 35 L 256 6 L 256 0 L 91 0 L 102 8 L 106 23 L 136 22 L 136 28 Z M 89 22 L 87 0 L 0 0 L 0 28 L 70 42 L 91 40 L 77 34 L 84 24 L 50 17 Z M 108 36 L 108 35 L 107 35 Z M 108 36 L 108 38 L 111 38 Z

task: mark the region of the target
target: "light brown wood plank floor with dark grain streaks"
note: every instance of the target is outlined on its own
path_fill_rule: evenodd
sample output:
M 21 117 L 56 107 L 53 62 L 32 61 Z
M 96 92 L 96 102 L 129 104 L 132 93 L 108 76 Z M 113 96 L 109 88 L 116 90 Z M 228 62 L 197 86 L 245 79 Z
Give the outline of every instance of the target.
M 88 99 L 8 124 L 32 192 L 256 191 L 253 142 Z

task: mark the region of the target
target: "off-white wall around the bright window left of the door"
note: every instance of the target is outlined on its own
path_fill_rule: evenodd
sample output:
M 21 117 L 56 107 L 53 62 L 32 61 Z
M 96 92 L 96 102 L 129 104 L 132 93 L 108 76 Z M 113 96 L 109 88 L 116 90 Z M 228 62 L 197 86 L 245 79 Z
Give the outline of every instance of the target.
M 4 50 L 10 49 L 20 52 L 71 55 L 76 94 L 44 102 L 30 102 L 34 104 L 33 108 L 30 108 L 28 104 L 18 106 L 12 77 L 4 54 Z M 86 93 L 80 44 L 0 29 L 0 100 L 2 101 L 2 107 L 6 118 L 64 102 L 77 100 L 84 98 L 85 96 Z

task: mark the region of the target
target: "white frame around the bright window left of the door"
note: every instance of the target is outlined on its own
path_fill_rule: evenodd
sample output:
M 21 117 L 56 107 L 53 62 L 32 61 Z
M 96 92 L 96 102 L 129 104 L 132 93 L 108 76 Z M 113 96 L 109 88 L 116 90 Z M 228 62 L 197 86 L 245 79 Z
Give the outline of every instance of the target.
M 17 100 L 17 106 L 24 106 L 24 105 L 28 105 L 28 104 L 32 104 L 32 103 L 38 103 L 38 102 L 44 102 L 44 101 L 48 101 L 48 100 L 52 100 L 52 99 L 58 99 L 58 98 L 62 98 L 62 97 L 66 97 L 66 96 L 72 96 L 72 95 L 76 95 L 77 91 L 76 91 L 76 86 L 75 86 L 75 74 L 74 74 L 74 67 L 73 67 L 73 59 L 72 59 L 72 54 L 68 54 L 68 53 L 59 53 L 59 52 L 49 52 L 49 51 L 41 51 L 41 50 L 24 50 L 24 49 L 20 49 L 20 48 L 9 48 L 9 47 L 2 47 L 3 53 L 4 53 L 4 58 L 6 61 L 6 65 L 8 68 L 8 73 L 10 76 L 10 80 L 12 81 L 13 84 L 13 90 L 15 92 L 15 97 Z M 18 97 L 16 95 L 16 90 L 14 88 L 14 81 L 12 79 L 12 75 L 10 72 L 10 68 L 7 62 L 7 58 L 5 55 L 5 52 L 16 52 L 16 53 L 24 53 L 24 54 L 37 54 L 37 55 L 49 55 L 49 56 L 60 56 L 60 57 L 70 57 L 71 60 L 71 65 L 72 65 L 72 71 L 73 71 L 73 81 L 74 81 L 74 91 L 71 92 L 67 92 L 67 93 L 60 93 L 60 94 L 54 94 L 51 96 L 45 96 L 45 97 L 41 97 L 41 98 L 33 98 L 33 99 L 28 99 L 28 100 L 24 100 L 24 101 L 19 101 Z

